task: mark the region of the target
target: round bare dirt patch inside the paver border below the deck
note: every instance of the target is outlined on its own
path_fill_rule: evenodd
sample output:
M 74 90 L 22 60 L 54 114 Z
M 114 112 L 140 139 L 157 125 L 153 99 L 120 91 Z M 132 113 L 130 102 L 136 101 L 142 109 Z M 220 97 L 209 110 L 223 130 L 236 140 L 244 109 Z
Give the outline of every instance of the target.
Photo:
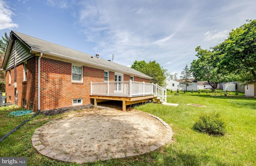
M 46 156 L 68 156 L 77 163 L 144 154 L 172 136 L 168 124 L 148 113 L 98 107 L 70 112 L 37 131 L 50 150 Z

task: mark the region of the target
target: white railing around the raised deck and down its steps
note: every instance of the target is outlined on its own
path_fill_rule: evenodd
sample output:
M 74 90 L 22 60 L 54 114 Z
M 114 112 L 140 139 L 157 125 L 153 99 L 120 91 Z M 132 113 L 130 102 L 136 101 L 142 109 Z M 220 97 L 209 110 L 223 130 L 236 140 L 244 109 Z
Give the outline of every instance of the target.
M 91 82 L 91 94 L 102 96 L 137 97 L 154 95 L 161 102 L 166 101 L 166 89 L 157 84 L 137 81 Z

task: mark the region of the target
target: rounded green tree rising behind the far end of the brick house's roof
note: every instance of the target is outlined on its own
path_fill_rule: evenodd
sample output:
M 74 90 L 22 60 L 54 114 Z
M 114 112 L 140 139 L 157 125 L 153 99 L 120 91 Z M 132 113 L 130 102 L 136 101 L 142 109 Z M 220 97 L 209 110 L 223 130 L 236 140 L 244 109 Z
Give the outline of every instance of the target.
M 146 61 L 134 61 L 131 68 L 153 77 L 150 82 L 157 83 L 159 86 L 165 86 L 164 80 L 169 76 L 167 69 L 163 69 L 155 60 L 148 63 Z

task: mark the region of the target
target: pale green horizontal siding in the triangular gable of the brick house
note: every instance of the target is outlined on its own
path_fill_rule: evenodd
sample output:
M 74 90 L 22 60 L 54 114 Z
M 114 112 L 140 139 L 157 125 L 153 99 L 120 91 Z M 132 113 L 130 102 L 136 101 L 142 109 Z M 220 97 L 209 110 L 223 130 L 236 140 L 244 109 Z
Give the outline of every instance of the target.
M 15 54 L 16 54 L 16 65 L 22 63 L 24 59 L 29 59 L 34 55 L 33 53 L 30 53 L 30 49 L 26 45 L 24 45 L 20 40 L 16 40 L 16 50 L 15 50 L 15 41 L 13 41 L 11 54 L 6 63 L 6 70 L 14 67 Z

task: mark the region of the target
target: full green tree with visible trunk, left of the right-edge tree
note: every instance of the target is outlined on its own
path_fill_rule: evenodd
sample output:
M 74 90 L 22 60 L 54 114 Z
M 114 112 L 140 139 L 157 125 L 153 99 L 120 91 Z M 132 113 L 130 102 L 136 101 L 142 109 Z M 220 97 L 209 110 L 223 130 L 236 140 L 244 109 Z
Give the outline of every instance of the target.
M 214 91 L 218 83 L 232 81 L 234 75 L 219 67 L 220 57 L 214 51 L 196 47 L 196 57 L 191 63 L 190 71 L 197 81 L 207 81 Z

